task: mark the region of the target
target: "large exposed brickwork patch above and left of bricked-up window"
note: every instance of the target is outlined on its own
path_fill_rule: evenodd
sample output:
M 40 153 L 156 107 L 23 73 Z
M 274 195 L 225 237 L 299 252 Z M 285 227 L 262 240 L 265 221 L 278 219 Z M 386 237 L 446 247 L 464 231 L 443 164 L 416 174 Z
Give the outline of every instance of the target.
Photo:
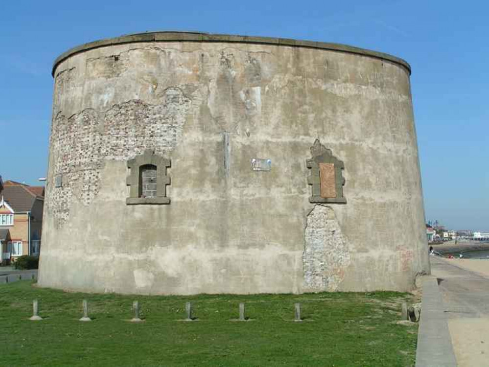
M 127 161 L 146 149 L 160 155 L 171 152 L 182 136 L 190 104 L 179 88 L 171 87 L 159 105 L 131 100 L 102 115 L 92 109 L 69 118 L 58 113 L 51 128 L 49 177 L 53 181 L 63 175 L 63 185 L 54 187 L 53 181 L 46 197 L 57 226 L 68 220 L 72 196 L 83 205 L 93 201 L 106 159 Z

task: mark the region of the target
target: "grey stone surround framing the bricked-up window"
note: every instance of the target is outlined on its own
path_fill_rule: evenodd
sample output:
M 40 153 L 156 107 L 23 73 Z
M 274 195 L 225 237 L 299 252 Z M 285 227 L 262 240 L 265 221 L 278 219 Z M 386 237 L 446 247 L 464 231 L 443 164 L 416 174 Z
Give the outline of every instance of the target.
M 156 197 L 140 197 L 140 169 L 142 166 L 152 164 L 156 166 Z M 127 205 L 162 205 L 170 204 L 170 198 L 166 197 L 166 185 L 170 184 L 170 177 L 166 175 L 166 168 L 171 166 L 171 161 L 158 156 L 153 150 L 146 150 L 143 154 L 127 161 L 127 168 L 131 170 L 127 177 L 126 184 L 130 187 L 129 197 L 126 199 Z

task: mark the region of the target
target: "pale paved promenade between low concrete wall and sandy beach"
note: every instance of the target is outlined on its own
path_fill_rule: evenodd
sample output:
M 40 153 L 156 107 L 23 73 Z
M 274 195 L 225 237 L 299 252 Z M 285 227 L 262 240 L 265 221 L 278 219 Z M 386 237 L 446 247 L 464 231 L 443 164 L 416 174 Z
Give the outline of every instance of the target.
M 489 366 L 489 277 L 456 266 L 455 261 L 430 256 L 448 318 L 457 365 Z M 488 261 L 489 260 L 480 260 Z

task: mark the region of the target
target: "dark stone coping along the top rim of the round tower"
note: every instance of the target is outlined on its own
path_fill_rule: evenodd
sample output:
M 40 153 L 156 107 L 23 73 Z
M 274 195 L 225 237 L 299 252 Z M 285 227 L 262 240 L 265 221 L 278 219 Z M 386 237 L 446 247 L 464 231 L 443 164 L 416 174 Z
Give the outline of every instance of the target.
M 411 74 L 411 66 L 403 59 L 389 55 L 383 52 L 371 51 L 364 48 L 353 47 L 348 45 L 333 44 L 326 42 L 315 41 L 301 41 L 287 38 L 272 38 L 272 37 L 255 37 L 255 36 L 238 36 L 229 34 L 211 34 L 203 32 L 145 32 L 128 34 L 116 38 L 107 38 L 104 40 L 90 42 L 84 45 L 76 46 L 63 52 L 54 60 L 51 75 L 54 76 L 56 68 L 64 60 L 68 59 L 71 55 L 79 52 L 84 52 L 93 48 L 123 45 L 129 43 L 139 42 L 227 42 L 227 43 L 248 43 L 248 44 L 261 44 L 261 45 L 275 45 L 275 46 L 293 46 L 293 47 L 307 47 L 307 48 L 319 48 L 325 50 L 339 51 L 353 53 L 357 55 L 363 55 L 368 57 L 374 57 L 377 59 L 386 60 L 403 67 L 409 74 Z

